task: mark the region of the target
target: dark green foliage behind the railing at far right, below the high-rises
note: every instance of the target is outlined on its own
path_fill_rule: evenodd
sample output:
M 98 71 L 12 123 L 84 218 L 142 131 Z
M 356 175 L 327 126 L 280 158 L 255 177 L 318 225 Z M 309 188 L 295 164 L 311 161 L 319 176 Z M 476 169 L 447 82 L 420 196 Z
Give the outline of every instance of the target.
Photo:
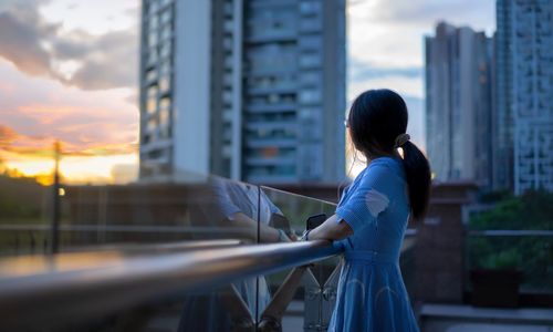
M 471 230 L 551 230 L 553 229 L 553 194 L 529 191 L 507 197 L 488 211 L 474 215 Z M 529 290 L 553 292 L 553 238 L 536 236 L 468 238 L 470 269 L 509 269 L 523 272 Z

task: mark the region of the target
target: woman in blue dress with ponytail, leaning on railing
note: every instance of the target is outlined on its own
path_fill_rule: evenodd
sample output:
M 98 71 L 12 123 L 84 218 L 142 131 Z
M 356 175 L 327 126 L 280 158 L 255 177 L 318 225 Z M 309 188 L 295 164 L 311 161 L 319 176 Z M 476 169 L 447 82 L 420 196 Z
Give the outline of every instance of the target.
M 336 214 L 304 236 L 340 240 L 345 251 L 328 331 L 418 331 L 398 260 L 409 216 L 421 218 L 428 204 L 428 160 L 409 142 L 407 106 L 393 91 L 362 93 L 346 126 L 368 165 Z

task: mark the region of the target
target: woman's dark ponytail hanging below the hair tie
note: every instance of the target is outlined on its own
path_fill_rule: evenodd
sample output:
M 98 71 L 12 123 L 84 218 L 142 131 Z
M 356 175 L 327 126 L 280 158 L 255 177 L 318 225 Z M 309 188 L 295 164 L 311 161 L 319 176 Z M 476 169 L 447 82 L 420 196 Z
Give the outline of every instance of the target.
M 410 141 L 401 144 L 401 148 L 413 217 L 421 219 L 425 217 L 430 198 L 430 164 Z

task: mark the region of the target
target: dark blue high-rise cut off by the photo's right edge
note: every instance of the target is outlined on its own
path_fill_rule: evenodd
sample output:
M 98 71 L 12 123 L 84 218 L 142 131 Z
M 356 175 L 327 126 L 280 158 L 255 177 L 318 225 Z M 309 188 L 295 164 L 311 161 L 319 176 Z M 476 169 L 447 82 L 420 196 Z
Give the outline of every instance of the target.
M 553 190 L 553 1 L 498 0 L 495 188 Z

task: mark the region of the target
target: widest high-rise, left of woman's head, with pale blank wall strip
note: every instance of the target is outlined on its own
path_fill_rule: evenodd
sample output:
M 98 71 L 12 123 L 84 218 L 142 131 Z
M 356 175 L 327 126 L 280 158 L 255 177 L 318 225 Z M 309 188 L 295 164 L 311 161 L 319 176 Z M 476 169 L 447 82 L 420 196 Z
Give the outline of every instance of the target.
M 140 176 L 345 174 L 345 0 L 143 0 Z

